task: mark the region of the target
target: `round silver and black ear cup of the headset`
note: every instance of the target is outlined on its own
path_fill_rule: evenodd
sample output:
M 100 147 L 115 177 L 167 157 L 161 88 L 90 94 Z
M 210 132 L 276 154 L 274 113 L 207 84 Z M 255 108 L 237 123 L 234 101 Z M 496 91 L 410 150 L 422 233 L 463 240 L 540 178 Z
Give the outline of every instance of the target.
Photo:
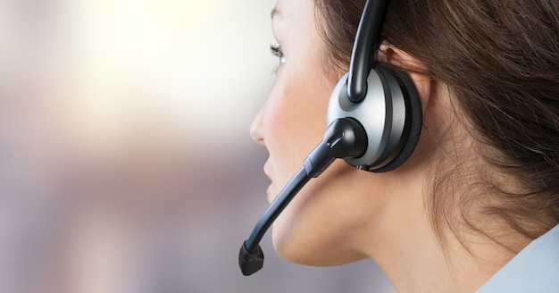
M 367 79 L 360 103 L 347 97 L 347 74 L 330 97 L 329 124 L 338 118 L 359 121 L 367 133 L 367 150 L 346 162 L 370 172 L 388 172 L 412 155 L 421 134 L 421 101 L 413 81 L 402 71 L 377 66 Z

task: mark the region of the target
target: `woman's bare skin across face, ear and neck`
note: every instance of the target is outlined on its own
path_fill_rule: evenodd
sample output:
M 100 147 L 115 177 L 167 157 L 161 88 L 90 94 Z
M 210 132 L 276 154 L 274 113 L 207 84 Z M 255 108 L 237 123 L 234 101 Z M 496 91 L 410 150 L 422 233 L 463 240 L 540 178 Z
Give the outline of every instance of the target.
M 271 180 L 269 201 L 302 167 L 327 128 L 336 81 L 324 73 L 326 46 L 314 10 L 313 0 L 280 0 L 272 13 L 272 31 L 285 59 L 280 59 L 277 80 L 250 130 L 270 154 L 263 168 Z M 421 66 L 388 44 L 380 51 L 385 61 Z M 337 73 L 341 77 L 344 72 Z M 371 258 L 401 292 L 471 292 L 513 254 L 467 232 L 461 236 L 468 249 L 450 231 L 443 231 L 446 242 L 441 245 L 428 213 L 428 179 L 434 175 L 433 164 L 455 163 L 445 154 L 471 155 L 471 138 L 455 123 L 446 85 L 417 73 L 410 77 L 421 97 L 424 134 L 408 162 L 386 173 L 333 163 L 280 214 L 272 229 L 273 244 L 279 255 L 297 264 L 338 265 Z M 460 138 L 464 147 L 442 139 L 447 137 Z M 504 231 L 498 222 L 491 228 Z

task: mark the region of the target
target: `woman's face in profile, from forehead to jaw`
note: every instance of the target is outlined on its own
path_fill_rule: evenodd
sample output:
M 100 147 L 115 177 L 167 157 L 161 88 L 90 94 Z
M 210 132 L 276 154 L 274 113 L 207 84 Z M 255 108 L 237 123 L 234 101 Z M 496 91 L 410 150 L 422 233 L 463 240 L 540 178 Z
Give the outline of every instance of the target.
M 303 166 L 327 128 L 326 113 L 336 81 L 327 78 L 326 46 L 317 29 L 313 0 L 280 0 L 272 12 L 272 31 L 279 58 L 276 81 L 254 118 L 251 136 L 268 149 L 264 172 L 271 180 L 271 201 Z M 343 72 L 339 72 L 339 76 Z M 288 261 L 310 265 L 345 264 L 361 259 L 352 235 L 371 218 L 375 201 L 363 198 L 369 183 L 356 182 L 367 172 L 335 162 L 312 180 L 274 223 L 277 252 Z M 364 191 L 364 192 L 363 192 Z

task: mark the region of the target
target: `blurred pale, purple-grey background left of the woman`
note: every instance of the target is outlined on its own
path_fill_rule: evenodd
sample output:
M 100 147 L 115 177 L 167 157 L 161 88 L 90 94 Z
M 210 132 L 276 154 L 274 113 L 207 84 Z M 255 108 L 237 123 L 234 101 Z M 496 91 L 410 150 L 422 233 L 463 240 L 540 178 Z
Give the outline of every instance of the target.
M 238 248 L 267 206 L 248 135 L 275 0 L 0 0 L 0 291 L 393 292 L 363 261 Z

